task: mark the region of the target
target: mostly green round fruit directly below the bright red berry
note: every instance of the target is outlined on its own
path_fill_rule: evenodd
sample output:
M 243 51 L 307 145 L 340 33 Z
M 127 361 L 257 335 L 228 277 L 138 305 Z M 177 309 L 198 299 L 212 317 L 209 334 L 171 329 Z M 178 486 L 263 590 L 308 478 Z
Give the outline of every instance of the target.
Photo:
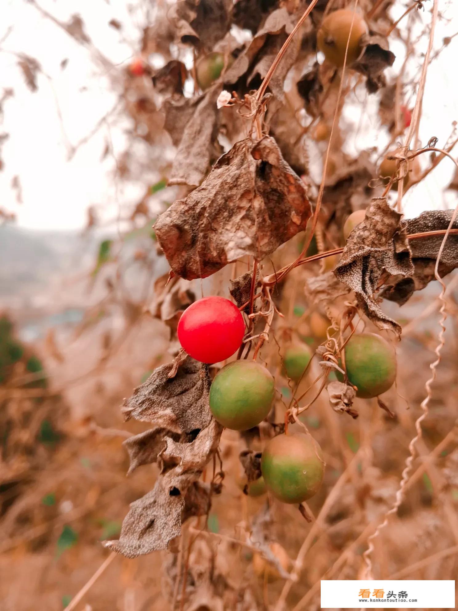
M 258 425 L 271 411 L 274 378 L 253 360 L 235 360 L 211 384 L 210 409 L 215 419 L 235 431 Z

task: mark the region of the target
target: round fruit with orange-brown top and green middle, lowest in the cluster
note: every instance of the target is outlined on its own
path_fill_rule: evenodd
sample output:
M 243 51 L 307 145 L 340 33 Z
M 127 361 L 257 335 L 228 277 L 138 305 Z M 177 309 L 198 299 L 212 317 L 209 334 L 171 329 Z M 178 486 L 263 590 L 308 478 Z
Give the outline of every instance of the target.
M 302 503 L 318 492 L 324 475 L 319 445 L 310 436 L 277 435 L 261 458 L 267 488 L 283 503 Z

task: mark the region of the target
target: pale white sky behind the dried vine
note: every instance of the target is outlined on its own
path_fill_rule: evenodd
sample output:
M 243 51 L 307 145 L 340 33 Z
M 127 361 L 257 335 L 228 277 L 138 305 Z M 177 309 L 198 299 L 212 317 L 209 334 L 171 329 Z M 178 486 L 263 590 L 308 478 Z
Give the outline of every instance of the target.
M 37 2 L 62 21 L 68 21 L 70 15 L 79 13 L 95 45 L 116 67 L 111 75 L 107 75 L 101 65 L 93 62 L 84 47 L 24 0 L 1 0 L 0 40 L 10 25 L 13 25 L 13 30 L 0 45 L 0 97 L 2 89 L 7 87 L 15 90 L 15 96 L 4 104 L 3 123 L 0 123 L 0 133 L 10 134 L 2 147 L 4 170 L 0 172 L 0 207 L 14 211 L 21 227 L 79 229 L 85 224 L 89 205 L 102 204 L 106 210 L 116 211 L 119 205 L 136 203 L 148 181 L 154 180 L 154 172 L 150 176 L 138 177 L 139 180 L 117 191 L 112 180 L 114 159 L 108 156 L 101 161 L 101 155 L 107 141 L 118 154 L 123 151 L 125 136 L 120 124 L 111 128 L 104 125 L 68 161 L 54 93 L 59 100 L 66 137 L 75 145 L 114 106 L 117 95 L 112 91 L 111 79 L 116 81 L 117 71 L 128 64 L 139 46 L 147 2 L 133 3 L 136 9 L 131 14 L 126 8 L 128 4 L 118 0 L 111 0 L 111 3 L 109 0 Z M 392 15 L 396 18 L 401 16 L 406 5 L 403 1 L 396 2 Z M 423 23 L 429 24 L 432 2 L 424 2 L 424 6 L 427 10 L 420 12 L 419 16 Z M 451 22 L 438 24 L 435 49 L 445 35 L 451 36 L 458 29 L 457 3 L 441 0 L 440 9 Z M 117 30 L 107 26 L 113 18 L 123 24 L 125 42 L 120 40 Z M 419 44 L 426 49 L 427 38 L 424 37 Z M 396 67 L 402 62 L 402 46 L 392 44 L 391 50 L 398 55 L 392 71 L 395 74 Z M 52 79 L 54 92 L 43 75 L 38 75 L 38 91 L 30 92 L 14 53 L 37 58 L 43 71 Z M 452 122 L 458 119 L 457 57 L 458 37 L 429 68 L 420 128 L 423 145 L 430 137 L 437 136 L 438 146 L 443 146 L 451 133 Z M 61 70 L 60 62 L 64 58 L 68 58 L 68 65 Z M 365 146 L 382 146 L 386 140 L 385 135 L 380 135 L 376 108 L 376 98 L 373 98 L 363 117 Z M 356 128 L 360 117 L 352 116 L 349 111 L 346 120 L 354 123 Z M 423 159 L 423 167 L 426 163 L 427 159 Z M 407 193 L 403 200 L 407 216 L 416 216 L 421 210 L 431 208 L 454 207 L 454 194 L 447 194 L 446 202 L 442 197 L 443 186 L 448 184 L 453 172 L 453 164 L 446 159 L 424 185 Z M 15 191 L 10 186 L 15 175 L 20 176 L 23 190 L 23 203 L 20 205 L 16 203 Z

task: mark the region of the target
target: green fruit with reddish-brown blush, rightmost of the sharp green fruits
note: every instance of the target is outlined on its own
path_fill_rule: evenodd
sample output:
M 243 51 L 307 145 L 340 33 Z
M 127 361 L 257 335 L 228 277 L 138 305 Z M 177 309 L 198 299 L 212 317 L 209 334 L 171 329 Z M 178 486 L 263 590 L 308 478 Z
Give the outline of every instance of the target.
M 386 392 L 396 379 L 396 354 L 387 340 L 374 333 L 352 335 L 344 348 L 345 368 L 357 397 L 370 399 Z M 343 379 L 341 373 L 337 373 Z

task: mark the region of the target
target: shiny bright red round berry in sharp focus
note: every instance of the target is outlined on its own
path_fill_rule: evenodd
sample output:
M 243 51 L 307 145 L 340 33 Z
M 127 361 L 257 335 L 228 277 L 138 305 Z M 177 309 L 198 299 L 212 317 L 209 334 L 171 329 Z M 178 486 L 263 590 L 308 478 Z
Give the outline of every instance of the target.
M 212 296 L 199 299 L 184 310 L 177 332 L 181 346 L 193 359 L 218 363 L 240 348 L 245 324 L 233 302 Z

